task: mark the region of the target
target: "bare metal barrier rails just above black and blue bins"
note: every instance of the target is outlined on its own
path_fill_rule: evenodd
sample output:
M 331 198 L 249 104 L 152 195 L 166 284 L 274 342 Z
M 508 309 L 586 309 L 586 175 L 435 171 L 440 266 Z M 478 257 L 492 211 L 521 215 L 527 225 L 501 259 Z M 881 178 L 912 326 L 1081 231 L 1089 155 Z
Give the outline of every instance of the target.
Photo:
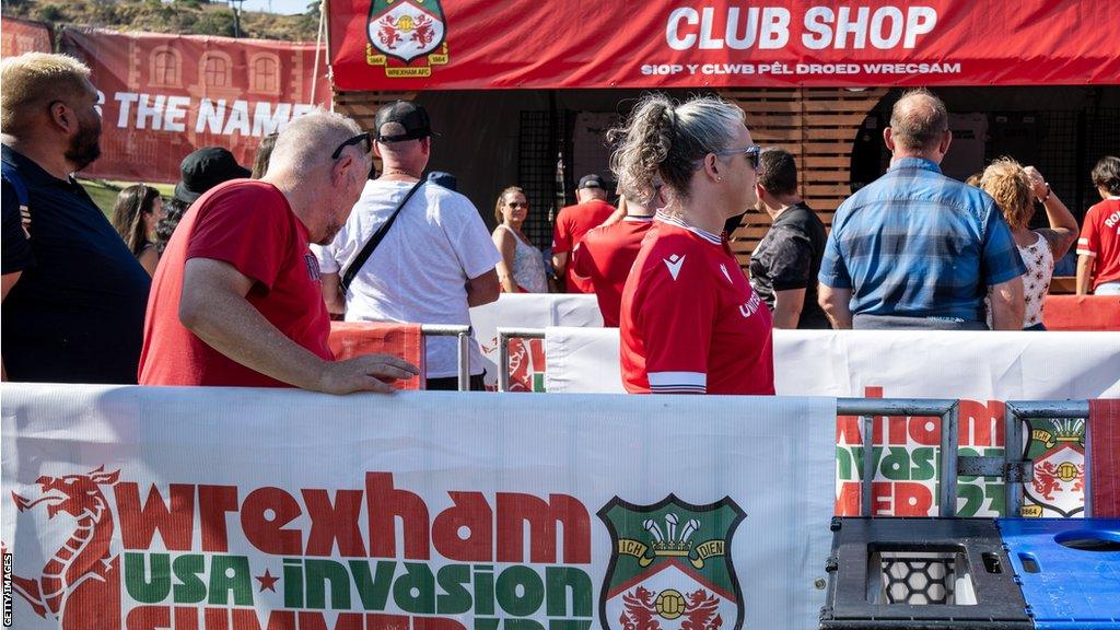
M 1023 425 L 1033 418 L 1089 418 L 1088 400 L 1009 400 L 1005 405 L 1004 457 L 984 457 L 958 454 L 960 424 L 959 402 L 952 399 L 916 398 L 838 398 L 838 416 L 859 416 L 864 443 L 860 463 L 860 516 L 871 517 L 871 482 L 875 479 L 872 451 L 875 416 L 940 416 L 941 417 L 941 484 L 939 487 L 939 516 L 956 516 L 956 478 L 960 474 L 996 476 L 1004 480 L 1005 516 L 1018 516 L 1023 508 L 1023 483 L 1030 481 L 1034 462 L 1025 458 Z M 1012 447 L 1011 445 L 1019 446 Z M 1085 423 L 1085 511 L 1092 516 L 1092 476 L 1089 470 L 1092 448 L 1092 423 Z

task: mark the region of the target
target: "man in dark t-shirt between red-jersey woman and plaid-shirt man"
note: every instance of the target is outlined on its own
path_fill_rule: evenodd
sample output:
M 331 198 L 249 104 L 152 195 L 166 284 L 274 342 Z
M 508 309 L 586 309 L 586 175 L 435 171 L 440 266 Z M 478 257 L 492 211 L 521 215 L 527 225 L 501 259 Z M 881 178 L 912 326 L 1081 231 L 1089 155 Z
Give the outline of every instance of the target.
M 763 151 L 755 192 L 773 224 L 750 254 L 750 285 L 774 313 L 775 328 L 829 328 L 816 304 L 824 224 L 797 195 L 797 165 L 790 151 Z

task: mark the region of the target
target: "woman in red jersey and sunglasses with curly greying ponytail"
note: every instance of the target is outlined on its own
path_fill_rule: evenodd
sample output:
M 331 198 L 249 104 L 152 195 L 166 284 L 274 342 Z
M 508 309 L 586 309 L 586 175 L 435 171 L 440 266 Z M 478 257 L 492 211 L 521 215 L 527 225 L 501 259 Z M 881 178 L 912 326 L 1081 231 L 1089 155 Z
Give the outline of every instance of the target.
M 623 290 L 623 385 L 632 393 L 774 393 L 769 309 L 721 237 L 755 204 L 760 148 L 743 110 L 713 96 L 648 94 L 613 133 L 612 169 L 632 198 L 668 204 Z

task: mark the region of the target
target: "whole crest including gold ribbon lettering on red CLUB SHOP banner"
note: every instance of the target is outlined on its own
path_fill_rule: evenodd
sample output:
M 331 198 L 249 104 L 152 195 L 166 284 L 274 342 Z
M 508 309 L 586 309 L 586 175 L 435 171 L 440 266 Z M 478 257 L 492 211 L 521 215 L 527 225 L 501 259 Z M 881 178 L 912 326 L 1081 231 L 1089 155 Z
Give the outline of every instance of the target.
M 373 0 L 366 33 L 366 63 L 384 66 L 385 76 L 422 78 L 448 62 L 439 0 Z

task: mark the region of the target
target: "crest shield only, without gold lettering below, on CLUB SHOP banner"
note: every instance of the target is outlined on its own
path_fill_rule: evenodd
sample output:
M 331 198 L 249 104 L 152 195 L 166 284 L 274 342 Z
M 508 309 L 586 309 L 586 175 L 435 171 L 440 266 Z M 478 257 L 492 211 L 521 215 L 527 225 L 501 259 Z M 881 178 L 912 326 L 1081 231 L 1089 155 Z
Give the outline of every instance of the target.
M 367 33 L 383 55 L 409 63 L 444 44 L 444 8 L 439 0 L 373 0 Z

